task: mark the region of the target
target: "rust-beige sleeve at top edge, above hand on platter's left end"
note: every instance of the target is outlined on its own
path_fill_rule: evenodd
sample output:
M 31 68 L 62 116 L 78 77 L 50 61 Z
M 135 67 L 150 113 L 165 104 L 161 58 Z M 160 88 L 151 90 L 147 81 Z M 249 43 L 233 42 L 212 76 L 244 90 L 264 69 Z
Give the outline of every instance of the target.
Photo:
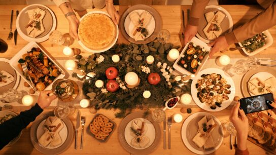
M 208 5 L 210 0 L 194 0 L 190 12 L 189 24 L 193 26 L 198 26 L 198 21 L 201 16 L 203 16 L 203 11 Z

